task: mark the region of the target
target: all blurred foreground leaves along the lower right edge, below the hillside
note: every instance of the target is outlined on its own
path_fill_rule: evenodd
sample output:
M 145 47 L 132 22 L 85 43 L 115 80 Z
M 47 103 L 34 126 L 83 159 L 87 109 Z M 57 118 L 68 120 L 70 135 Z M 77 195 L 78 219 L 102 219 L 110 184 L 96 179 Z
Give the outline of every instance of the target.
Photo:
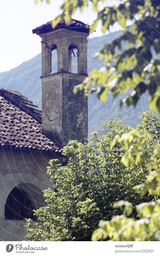
M 149 170 L 149 174 L 146 177 L 146 183 L 134 186 L 134 190 L 141 196 L 149 193 L 154 196 L 154 199 L 151 202 L 138 204 L 136 207 L 133 207 L 128 201 L 115 203 L 113 208 L 120 208 L 123 212 L 122 215 L 113 216 L 110 221 L 101 220 L 99 228 L 93 232 L 92 241 L 160 241 L 160 200 L 158 199 L 160 192 L 160 125 L 155 115 L 150 112 L 144 113 L 142 119 L 143 121 L 137 126 L 134 133 L 131 131 L 123 134 L 122 137 L 118 135 L 111 147 L 115 144 L 121 145 L 126 150 L 125 155 L 130 150 L 131 157 L 126 159 L 127 164 L 123 159 L 125 155 L 122 157 L 125 166 L 132 163 L 132 156 L 135 156 L 135 161 L 138 159 L 140 165 L 143 164 L 144 159 L 145 161 L 148 159 L 146 168 Z M 139 132 L 143 132 L 141 137 L 139 137 Z M 139 142 L 142 150 L 150 148 L 150 153 L 147 152 L 145 156 L 141 153 L 140 148 L 137 148 L 136 152 L 134 147 L 131 149 L 131 144 L 137 140 L 137 136 L 141 138 Z M 147 144 L 146 141 L 148 141 Z M 154 142 L 152 143 L 152 141 Z M 132 215 L 134 208 L 136 214 Z

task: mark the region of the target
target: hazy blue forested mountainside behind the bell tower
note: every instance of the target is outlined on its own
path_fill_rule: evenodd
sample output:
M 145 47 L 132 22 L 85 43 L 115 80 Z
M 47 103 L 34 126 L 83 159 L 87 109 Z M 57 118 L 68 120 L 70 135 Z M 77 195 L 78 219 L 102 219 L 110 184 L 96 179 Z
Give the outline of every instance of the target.
M 105 36 L 95 37 L 88 40 L 88 73 L 93 68 L 103 67 L 103 61 L 98 61 L 94 58 L 96 52 L 101 49 L 101 46 L 105 43 L 109 43 L 112 39 L 118 38 L 121 35 L 121 31 L 116 31 Z M 73 64 L 75 64 L 74 57 L 72 58 Z M 76 65 L 75 65 L 76 66 Z M 56 70 L 56 63 L 53 62 L 53 70 Z M 74 71 L 74 68 L 73 68 Z M 34 58 L 27 62 L 23 62 L 18 67 L 11 69 L 10 71 L 0 73 L 0 87 L 10 88 L 18 90 L 31 99 L 35 104 L 41 108 L 41 54 L 38 54 Z M 149 110 L 148 98 L 143 95 L 138 102 L 136 108 L 123 107 L 122 111 L 119 111 L 119 98 L 113 100 L 110 95 L 107 102 L 101 103 L 97 96 L 92 95 L 88 98 L 88 110 L 89 110 L 89 133 L 92 131 L 100 132 L 102 127 L 101 122 L 107 122 L 109 118 L 115 119 L 118 117 L 124 120 L 126 124 L 135 127 L 139 122 L 137 120 L 138 115 L 141 115 L 144 111 Z

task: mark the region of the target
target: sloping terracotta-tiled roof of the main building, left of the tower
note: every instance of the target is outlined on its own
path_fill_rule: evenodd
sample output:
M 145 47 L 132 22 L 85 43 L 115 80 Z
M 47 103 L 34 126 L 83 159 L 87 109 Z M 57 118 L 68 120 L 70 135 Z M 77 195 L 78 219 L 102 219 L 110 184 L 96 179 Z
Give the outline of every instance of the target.
M 0 90 L 0 146 L 61 153 L 42 134 L 41 110 L 20 92 Z M 38 121 L 39 119 L 39 121 Z

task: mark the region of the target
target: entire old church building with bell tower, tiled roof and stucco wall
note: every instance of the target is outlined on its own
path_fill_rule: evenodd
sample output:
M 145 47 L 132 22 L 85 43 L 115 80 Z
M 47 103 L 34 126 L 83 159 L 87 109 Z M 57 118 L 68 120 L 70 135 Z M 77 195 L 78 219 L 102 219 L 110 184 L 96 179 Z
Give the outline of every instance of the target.
M 16 90 L 0 89 L 1 241 L 25 240 L 24 218 L 37 221 L 33 210 L 46 205 L 42 191 L 53 186 L 48 162 L 57 158 L 65 165 L 62 148 L 71 140 L 86 142 L 88 135 L 87 98 L 73 88 L 87 77 L 89 26 L 71 19 L 69 26 L 60 21 L 53 28 L 50 21 L 32 32 L 41 37 L 42 109 Z

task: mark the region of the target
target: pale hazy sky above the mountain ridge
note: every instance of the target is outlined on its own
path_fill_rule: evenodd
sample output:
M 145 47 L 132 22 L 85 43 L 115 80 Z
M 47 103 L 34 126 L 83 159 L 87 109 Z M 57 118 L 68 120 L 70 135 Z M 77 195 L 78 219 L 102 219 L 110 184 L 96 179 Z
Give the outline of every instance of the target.
M 41 38 L 33 35 L 32 29 L 60 14 L 59 7 L 62 2 L 51 0 L 48 5 L 44 0 L 36 5 L 34 0 L 0 1 L 0 72 L 15 68 L 41 52 Z M 95 17 L 96 14 L 91 8 L 73 15 L 73 18 L 88 24 L 91 24 Z M 112 30 L 117 29 L 118 27 L 114 27 Z M 97 29 L 91 36 L 101 35 L 101 30 Z

